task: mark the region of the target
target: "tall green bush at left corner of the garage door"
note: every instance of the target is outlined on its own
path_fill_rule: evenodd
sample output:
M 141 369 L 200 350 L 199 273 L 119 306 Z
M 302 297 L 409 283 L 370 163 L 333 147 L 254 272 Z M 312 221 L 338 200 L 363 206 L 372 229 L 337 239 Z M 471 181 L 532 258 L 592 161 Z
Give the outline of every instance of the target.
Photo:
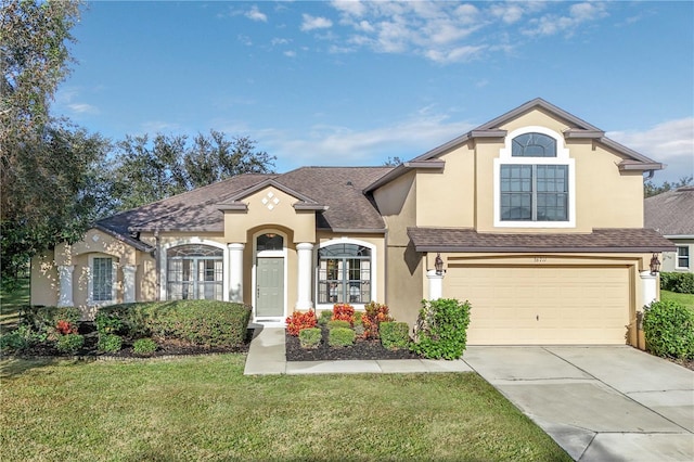
M 430 359 L 459 359 L 467 343 L 470 303 L 454 298 L 422 300 L 410 349 Z

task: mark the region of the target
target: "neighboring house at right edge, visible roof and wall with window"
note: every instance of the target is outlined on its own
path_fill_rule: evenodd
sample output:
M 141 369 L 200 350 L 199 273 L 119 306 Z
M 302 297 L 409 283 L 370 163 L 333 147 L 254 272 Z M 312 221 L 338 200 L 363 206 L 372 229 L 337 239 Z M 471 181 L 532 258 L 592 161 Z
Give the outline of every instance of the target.
M 694 272 L 694 187 L 682 187 L 645 200 L 645 227 L 669 239 L 674 252 L 663 254 L 663 271 Z

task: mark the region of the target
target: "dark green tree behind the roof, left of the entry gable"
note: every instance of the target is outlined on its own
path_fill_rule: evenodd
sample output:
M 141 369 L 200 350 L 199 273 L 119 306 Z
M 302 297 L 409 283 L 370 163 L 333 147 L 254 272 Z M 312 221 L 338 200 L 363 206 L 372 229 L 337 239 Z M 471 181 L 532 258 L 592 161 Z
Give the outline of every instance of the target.
M 126 137 L 116 144 L 112 165 L 116 208 L 125 210 L 204 187 L 235 175 L 271 171 L 275 157 L 255 151 L 246 138 L 224 133 L 185 136 L 158 133 Z

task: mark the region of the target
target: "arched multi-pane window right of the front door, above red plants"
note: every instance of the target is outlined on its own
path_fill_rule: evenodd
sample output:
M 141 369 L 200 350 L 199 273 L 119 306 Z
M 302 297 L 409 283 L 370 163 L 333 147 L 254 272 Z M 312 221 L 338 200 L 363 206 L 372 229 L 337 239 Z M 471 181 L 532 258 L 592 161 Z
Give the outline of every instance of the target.
M 318 303 L 371 301 L 371 249 L 359 244 L 333 244 L 318 251 Z

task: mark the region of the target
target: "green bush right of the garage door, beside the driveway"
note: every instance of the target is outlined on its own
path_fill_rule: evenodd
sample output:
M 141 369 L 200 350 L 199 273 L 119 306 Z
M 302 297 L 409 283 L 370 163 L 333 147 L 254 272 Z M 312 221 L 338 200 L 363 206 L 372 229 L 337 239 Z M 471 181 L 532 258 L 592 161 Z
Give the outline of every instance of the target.
M 646 348 L 654 355 L 694 359 L 694 311 L 677 301 L 653 301 L 643 312 Z

